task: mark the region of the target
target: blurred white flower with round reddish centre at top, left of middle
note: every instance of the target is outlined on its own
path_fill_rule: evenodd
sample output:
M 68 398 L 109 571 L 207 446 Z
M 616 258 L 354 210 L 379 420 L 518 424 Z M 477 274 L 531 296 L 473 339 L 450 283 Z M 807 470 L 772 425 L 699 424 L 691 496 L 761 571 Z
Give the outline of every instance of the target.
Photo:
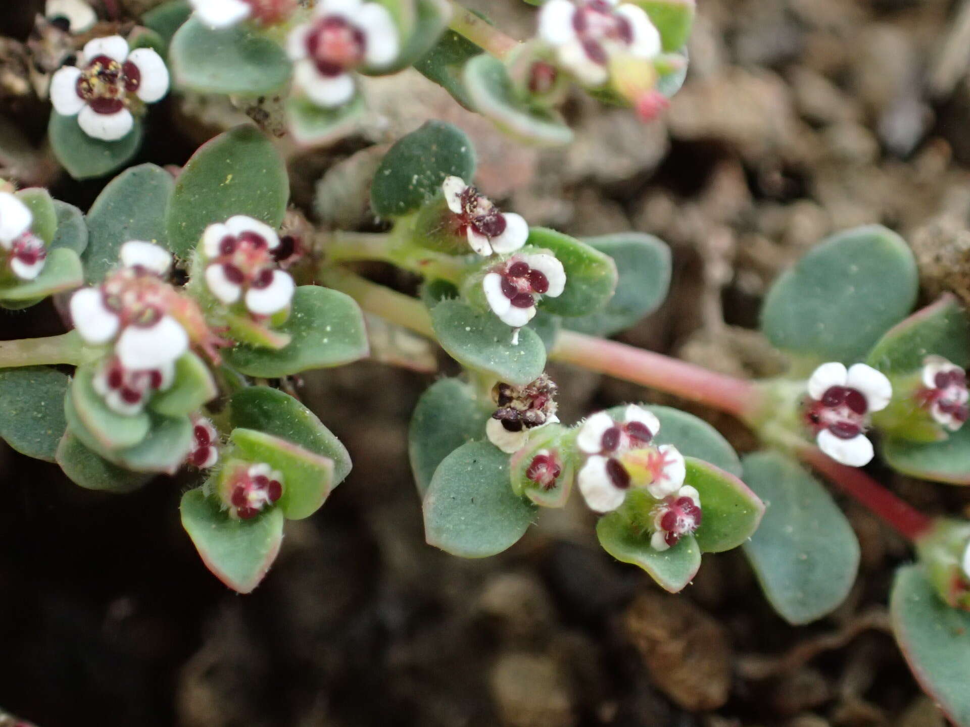
M 294 83 L 317 106 L 334 108 L 354 95 L 349 72 L 390 65 L 400 40 L 394 18 L 378 3 L 320 0 L 313 20 L 290 33 L 288 48 Z

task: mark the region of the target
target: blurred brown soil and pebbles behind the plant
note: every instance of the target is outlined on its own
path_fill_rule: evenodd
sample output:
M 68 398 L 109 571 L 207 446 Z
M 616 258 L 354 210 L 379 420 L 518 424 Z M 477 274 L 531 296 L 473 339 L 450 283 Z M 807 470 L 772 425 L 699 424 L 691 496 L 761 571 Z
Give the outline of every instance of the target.
M 132 16 L 157 4 L 104 2 Z M 0 8 L 0 175 L 44 138 L 48 107 L 24 85 L 22 45 L 42 5 Z M 521 0 L 472 5 L 517 38 L 533 32 Z M 451 121 L 478 148 L 483 190 L 533 224 L 670 243 L 669 299 L 621 337 L 739 375 L 782 370 L 755 331 L 760 300 L 842 228 L 898 231 L 920 261 L 923 301 L 944 290 L 970 301 L 970 2 L 700 0 L 690 52 L 660 121 L 577 94 L 566 108 L 577 141 L 553 150 L 504 139 L 416 73 L 372 79 L 360 131 L 294 154 L 294 203 L 317 223 L 371 229 L 362 190 L 384 145 L 426 118 Z M 192 96 L 162 107 L 137 162 L 181 165 L 245 118 Z M 38 181 L 86 208 L 107 179 L 49 169 Z M 0 312 L 3 338 L 62 330 L 50 301 Z M 550 372 L 567 423 L 621 401 L 683 405 Z M 406 425 L 435 376 L 364 363 L 302 378 L 354 470 L 316 516 L 288 523 L 248 596 L 210 576 L 182 532 L 188 479 L 86 491 L 0 443 L 0 705 L 40 727 L 944 725 L 888 633 L 892 569 L 910 553 L 841 499 L 862 546 L 858 582 L 802 628 L 773 614 L 739 552 L 707 555 L 694 585 L 663 593 L 598 549 L 579 498 L 494 558 L 426 546 Z M 754 445 L 732 420 L 685 408 L 739 451 Z M 874 474 L 931 512 L 970 503 Z

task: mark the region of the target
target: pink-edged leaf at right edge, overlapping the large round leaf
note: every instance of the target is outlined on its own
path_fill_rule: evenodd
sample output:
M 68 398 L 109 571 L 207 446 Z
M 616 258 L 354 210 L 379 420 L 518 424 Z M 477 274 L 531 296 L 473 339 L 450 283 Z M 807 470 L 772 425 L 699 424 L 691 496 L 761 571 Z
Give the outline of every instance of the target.
M 970 320 L 949 294 L 889 329 L 866 363 L 888 375 L 906 374 L 920 370 L 931 354 L 970 364 Z

